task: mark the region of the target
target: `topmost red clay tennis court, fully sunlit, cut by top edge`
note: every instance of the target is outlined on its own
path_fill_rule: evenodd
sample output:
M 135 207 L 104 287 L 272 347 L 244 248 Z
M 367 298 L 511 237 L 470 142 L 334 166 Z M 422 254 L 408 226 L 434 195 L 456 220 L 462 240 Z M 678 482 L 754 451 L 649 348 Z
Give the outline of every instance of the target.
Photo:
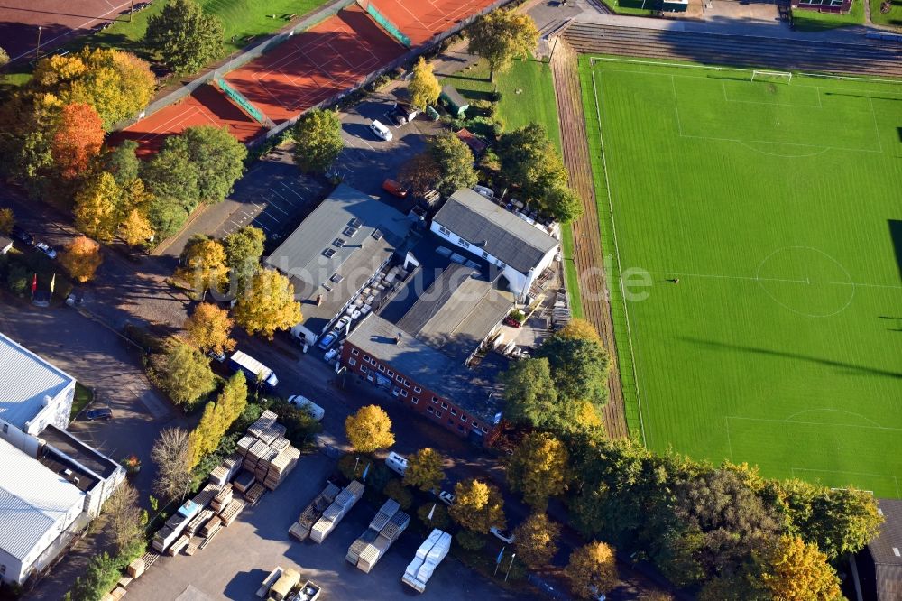
M 375 6 L 416 46 L 437 33 L 451 29 L 471 14 L 478 14 L 492 0 L 362 0 Z

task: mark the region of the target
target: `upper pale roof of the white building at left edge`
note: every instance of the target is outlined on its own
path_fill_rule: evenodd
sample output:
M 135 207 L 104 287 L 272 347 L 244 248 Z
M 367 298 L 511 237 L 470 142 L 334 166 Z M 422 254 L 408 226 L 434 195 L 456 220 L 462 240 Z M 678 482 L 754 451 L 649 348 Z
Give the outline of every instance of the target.
M 0 419 L 23 429 L 43 408 L 44 396 L 56 397 L 75 379 L 0 334 Z

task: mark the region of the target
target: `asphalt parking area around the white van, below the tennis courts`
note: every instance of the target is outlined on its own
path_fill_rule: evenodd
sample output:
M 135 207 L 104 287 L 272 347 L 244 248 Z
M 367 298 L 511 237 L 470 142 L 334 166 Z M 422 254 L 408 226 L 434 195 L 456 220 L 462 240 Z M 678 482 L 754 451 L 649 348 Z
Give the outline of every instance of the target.
M 417 116 L 410 123 L 396 125 L 386 114 L 391 113 L 397 99 L 391 94 L 373 94 L 342 115 L 345 150 L 336 162 L 336 171 L 346 184 L 388 200 L 393 206 L 398 206 L 399 199 L 382 190 L 382 181 L 396 179 L 400 167 L 421 153 L 428 137 L 441 129 L 425 115 Z M 373 120 L 389 128 L 390 142 L 373 134 L 370 130 Z

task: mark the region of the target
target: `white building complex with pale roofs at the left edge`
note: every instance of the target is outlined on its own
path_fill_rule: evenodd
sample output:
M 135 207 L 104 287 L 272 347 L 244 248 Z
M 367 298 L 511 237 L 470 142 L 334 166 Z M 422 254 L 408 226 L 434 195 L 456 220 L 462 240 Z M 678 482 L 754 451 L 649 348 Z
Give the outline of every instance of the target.
M 125 478 L 65 430 L 74 397 L 75 378 L 0 334 L 0 581 L 50 565 Z

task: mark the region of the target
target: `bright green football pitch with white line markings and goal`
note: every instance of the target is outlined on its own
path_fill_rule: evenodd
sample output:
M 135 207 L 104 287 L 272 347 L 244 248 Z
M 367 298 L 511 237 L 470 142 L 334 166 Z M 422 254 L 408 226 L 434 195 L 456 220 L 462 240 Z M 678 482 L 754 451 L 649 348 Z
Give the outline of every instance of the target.
M 902 83 L 580 60 L 630 429 L 902 496 Z

